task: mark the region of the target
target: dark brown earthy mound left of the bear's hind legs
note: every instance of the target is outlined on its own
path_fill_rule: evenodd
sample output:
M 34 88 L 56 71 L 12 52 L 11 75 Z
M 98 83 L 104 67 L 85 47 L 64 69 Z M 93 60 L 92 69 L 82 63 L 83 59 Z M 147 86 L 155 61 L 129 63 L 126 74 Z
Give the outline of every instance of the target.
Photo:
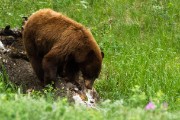
M 21 86 L 23 91 L 42 89 L 26 57 L 21 36 L 15 38 L 2 35 L 0 41 L 5 46 L 5 50 L 0 52 L 0 64 L 2 65 L 0 70 L 2 71 L 2 67 L 4 67 L 9 80 L 17 86 Z

